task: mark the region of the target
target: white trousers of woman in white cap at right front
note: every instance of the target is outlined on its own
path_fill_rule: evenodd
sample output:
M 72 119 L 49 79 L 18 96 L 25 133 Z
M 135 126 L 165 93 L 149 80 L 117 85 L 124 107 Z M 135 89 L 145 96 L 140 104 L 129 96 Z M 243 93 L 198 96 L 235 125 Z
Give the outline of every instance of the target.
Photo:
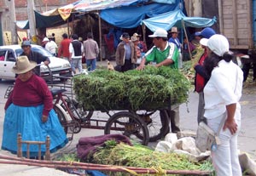
M 216 118 L 207 119 L 207 124 L 216 133 L 218 131 L 218 126 L 224 117 L 226 117 L 225 113 Z M 226 128 L 223 131 L 222 128 L 219 133 L 221 145 L 218 145 L 216 151 L 211 151 L 212 164 L 217 176 L 241 176 L 241 166 L 237 151 L 237 135 L 241 128 L 241 119 L 239 117 L 239 119 L 235 118 L 235 120 L 238 126 L 237 132 L 232 135 L 230 129 Z

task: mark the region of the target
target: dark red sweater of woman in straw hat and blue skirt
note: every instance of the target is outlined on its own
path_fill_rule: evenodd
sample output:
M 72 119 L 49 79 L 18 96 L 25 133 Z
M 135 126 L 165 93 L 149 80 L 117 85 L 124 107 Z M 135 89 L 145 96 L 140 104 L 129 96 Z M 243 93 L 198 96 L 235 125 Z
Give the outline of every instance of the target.
M 15 87 L 10 94 L 4 109 L 11 103 L 20 106 L 44 105 L 43 115 L 48 116 L 53 108 L 53 98 L 49 88 L 42 77 L 32 75 L 26 82 L 21 82 L 19 78 L 15 81 Z

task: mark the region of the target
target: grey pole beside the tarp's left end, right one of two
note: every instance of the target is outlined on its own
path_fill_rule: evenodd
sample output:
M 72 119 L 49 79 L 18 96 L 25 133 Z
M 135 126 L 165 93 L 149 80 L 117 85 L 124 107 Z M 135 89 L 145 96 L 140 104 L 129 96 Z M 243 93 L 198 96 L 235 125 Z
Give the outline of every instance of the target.
M 27 0 L 26 1 L 27 5 L 27 16 L 28 16 L 28 21 L 29 21 L 29 38 L 32 38 L 33 36 L 37 35 L 36 32 L 36 19 L 35 19 L 35 3 L 34 0 Z

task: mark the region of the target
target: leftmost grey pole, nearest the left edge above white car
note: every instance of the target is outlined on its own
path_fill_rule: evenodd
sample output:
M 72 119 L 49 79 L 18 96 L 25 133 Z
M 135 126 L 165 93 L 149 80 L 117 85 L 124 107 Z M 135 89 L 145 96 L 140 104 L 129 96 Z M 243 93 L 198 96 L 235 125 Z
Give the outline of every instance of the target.
M 10 31 L 13 44 L 18 44 L 17 40 L 17 27 L 16 27 L 16 12 L 15 12 L 15 0 L 9 1 L 9 18 L 10 18 Z

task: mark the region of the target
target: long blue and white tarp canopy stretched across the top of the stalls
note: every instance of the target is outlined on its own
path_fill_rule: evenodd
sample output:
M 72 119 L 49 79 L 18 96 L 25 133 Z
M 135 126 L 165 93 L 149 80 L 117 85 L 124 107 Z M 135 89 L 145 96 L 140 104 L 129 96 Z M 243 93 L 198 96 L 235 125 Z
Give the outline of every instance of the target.
M 135 28 L 142 20 L 183 8 L 183 0 L 79 0 L 43 14 L 35 11 L 36 28 L 60 26 L 81 14 L 98 12 L 102 20 L 120 28 Z M 73 17 L 71 17 L 73 14 Z M 17 21 L 21 29 L 29 29 L 28 20 Z

